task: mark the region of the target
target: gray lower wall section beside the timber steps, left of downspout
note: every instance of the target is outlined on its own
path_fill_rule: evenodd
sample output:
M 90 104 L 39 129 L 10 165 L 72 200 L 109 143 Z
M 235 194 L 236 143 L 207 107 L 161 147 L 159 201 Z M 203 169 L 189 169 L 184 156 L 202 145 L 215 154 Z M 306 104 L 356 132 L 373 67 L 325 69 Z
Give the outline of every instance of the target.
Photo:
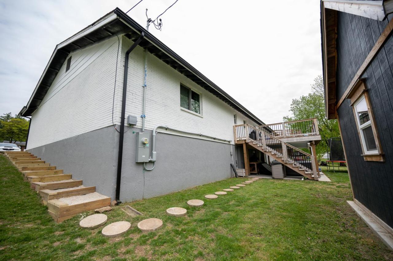
M 71 173 L 72 179 L 83 179 L 84 186 L 95 186 L 98 193 L 114 199 L 119 144 L 116 133 L 110 126 L 28 151 L 64 173 Z

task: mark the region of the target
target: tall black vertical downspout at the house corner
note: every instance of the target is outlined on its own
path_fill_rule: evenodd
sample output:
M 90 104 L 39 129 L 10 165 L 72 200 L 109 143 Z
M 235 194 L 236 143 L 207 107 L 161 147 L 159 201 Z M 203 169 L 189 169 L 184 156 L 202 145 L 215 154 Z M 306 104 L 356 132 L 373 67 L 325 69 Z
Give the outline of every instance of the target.
M 125 53 L 124 60 L 124 80 L 123 80 L 123 100 L 121 102 L 121 121 L 120 121 L 120 139 L 119 139 L 119 155 L 118 155 L 118 175 L 116 178 L 116 201 L 118 204 L 120 201 L 120 181 L 121 181 L 121 163 L 123 160 L 123 141 L 124 141 L 124 121 L 125 121 L 125 102 L 127 97 L 127 76 L 128 76 L 128 60 L 130 53 L 135 49 L 136 46 L 143 40 L 145 34 L 142 32 L 141 36 L 132 44 L 132 46 Z

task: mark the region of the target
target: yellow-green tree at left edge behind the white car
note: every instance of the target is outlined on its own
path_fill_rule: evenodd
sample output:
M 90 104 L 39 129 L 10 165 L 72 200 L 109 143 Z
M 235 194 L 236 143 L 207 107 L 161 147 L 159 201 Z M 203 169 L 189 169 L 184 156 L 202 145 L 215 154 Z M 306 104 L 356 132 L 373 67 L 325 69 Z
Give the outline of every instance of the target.
M 0 116 L 0 142 L 26 141 L 28 128 L 28 120 L 17 115 L 12 117 L 11 113 L 4 113 Z

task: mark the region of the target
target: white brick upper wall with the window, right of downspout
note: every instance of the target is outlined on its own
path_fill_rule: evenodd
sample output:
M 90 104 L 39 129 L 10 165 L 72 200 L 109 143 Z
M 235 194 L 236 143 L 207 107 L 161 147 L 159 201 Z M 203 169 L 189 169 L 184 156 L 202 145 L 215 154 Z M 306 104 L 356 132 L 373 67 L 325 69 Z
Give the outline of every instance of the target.
M 121 57 L 124 57 L 130 45 L 131 42 L 123 38 Z M 131 53 L 129 62 L 126 118 L 127 115 L 136 115 L 138 128 L 142 127 L 140 115 L 143 101 L 144 57 L 143 49 L 137 47 Z M 119 78 L 123 78 L 123 72 Z M 201 94 L 200 116 L 181 109 L 180 82 Z M 243 120 L 246 120 L 249 124 L 258 125 L 149 53 L 146 95 L 147 130 L 152 130 L 157 125 L 167 125 L 233 142 L 234 114 L 237 114 L 238 124 L 243 124 Z M 118 99 L 121 102 L 121 96 L 118 96 Z

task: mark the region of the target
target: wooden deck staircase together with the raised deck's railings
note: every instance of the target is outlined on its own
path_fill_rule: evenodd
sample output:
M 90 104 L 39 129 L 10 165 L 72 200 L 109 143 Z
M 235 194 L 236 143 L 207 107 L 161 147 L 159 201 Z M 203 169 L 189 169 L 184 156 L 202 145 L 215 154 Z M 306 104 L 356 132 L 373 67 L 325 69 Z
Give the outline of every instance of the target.
M 299 141 L 300 139 L 302 141 L 318 140 L 318 137 L 310 138 L 313 135 L 320 137 L 316 119 L 303 121 L 312 121 L 312 123 L 302 123 L 300 128 L 297 127 L 297 123 L 302 121 L 294 121 L 297 124 L 296 127 L 287 124 L 288 122 L 257 127 L 248 124 L 235 125 L 233 126 L 235 143 L 248 144 L 304 177 L 318 181 L 320 173 L 318 171 L 318 162 L 316 157 L 314 157 L 315 151 L 314 155 L 311 155 L 283 141 L 284 139 L 288 141 L 291 137 L 294 137 L 294 141 Z M 280 125 L 281 128 L 270 128 L 274 125 Z M 307 132 L 307 130 L 309 131 Z

